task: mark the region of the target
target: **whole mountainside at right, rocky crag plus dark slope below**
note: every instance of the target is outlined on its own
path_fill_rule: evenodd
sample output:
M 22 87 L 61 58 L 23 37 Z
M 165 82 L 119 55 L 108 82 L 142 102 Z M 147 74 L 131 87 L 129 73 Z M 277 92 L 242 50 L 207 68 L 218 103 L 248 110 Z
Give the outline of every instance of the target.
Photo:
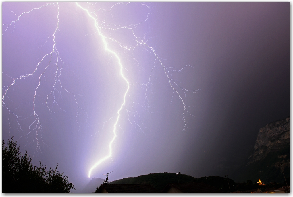
M 289 117 L 278 120 L 259 129 L 254 151 L 237 172 L 236 180 L 247 179 L 265 184 L 283 183 L 289 177 L 290 168 Z M 282 163 L 281 166 L 279 166 Z M 284 172 L 284 175 L 283 175 Z

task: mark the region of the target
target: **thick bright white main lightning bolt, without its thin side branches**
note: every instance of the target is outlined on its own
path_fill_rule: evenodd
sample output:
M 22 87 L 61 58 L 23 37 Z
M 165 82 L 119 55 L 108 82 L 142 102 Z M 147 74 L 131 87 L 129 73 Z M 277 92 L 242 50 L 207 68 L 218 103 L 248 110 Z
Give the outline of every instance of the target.
M 90 14 L 90 12 L 89 12 L 87 9 L 83 8 L 82 6 L 80 6 L 77 2 L 76 2 L 76 5 L 77 5 L 78 7 L 80 7 L 81 9 L 83 9 L 84 11 L 86 11 L 86 13 L 88 14 L 88 16 L 94 20 L 94 22 L 95 22 L 95 27 L 96 27 L 96 29 L 97 29 L 97 31 L 98 31 L 98 35 L 101 37 L 101 39 L 102 39 L 102 41 L 103 41 L 104 49 L 105 49 L 106 51 L 108 51 L 109 53 L 112 53 L 112 54 L 115 56 L 115 58 L 116 58 L 117 61 L 118 61 L 118 65 L 119 65 L 119 67 L 120 67 L 120 75 L 121 75 L 121 77 L 125 80 L 125 82 L 127 83 L 127 90 L 125 91 L 125 94 L 124 94 L 124 96 L 123 96 L 123 102 L 122 102 L 120 108 L 118 109 L 118 111 L 117 111 L 117 113 L 116 113 L 116 114 L 117 114 L 117 119 L 116 119 L 116 122 L 115 122 L 115 124 L 114 124 L 114 128 L 113 128 L 113 134 L 114 134 L 114 136 L 113 136 L 112 140 L 111 140 L 110 143 L 109 143 L 109 154 L 108 154 L 107 156 L 101 158 L 100 160 L 98 160 L 98 162 L 95 163 L 95 164 L 93 165 L 93 167 L 91 167 L 91 169 L 90 169 L 90 171 L 89 171 L 89 173 L 88 173 L 88 177 L 91 177 L 91 172 L 92 172 L 92 170 L 93 170 L 94 168 L 96 168 L 100 163 L 102 163 L 102 162 L 105 161 L 106 159 L 110 158 L 111 155 L 112 155 L 112 144 L 113 144 L 113 142 L 114 142 L 114 140 L 116 139 L 116 136 L 117 136 L 117 135 L 116 135 L 116 130 L 117 130 L 117 124 L 118 124 L 119 117 L 120 117 L 120 111 L 122 110 L 123 106 L 125 105 L 125 98 L 126 98 L 126 95 L 127 95 L 127 93 L 128 93 L 128 90 L 129 90 L 129 87 L 130 87 L 130 86 L 129 86 L 129 82 L 128 82 L 128 80 L 127 80 L 126 77 L 123 75 L 123 72 L 122 72 L 122 71 L 123 71 L 123 66 L 122 66 L 121 60 L 120 60 L 119 56 L 117 55 L 117 53 L 115 53 L 115 51 L 112 51 L 112 50 L 110 50 L 110 49 L 108 48 L 108 44 L 107 44 L 107 42 L 106 42 L 106 38 L 105 38 L 105 36 L 101 33 L 101 31 L 100 31 L 100 27 L 98 26 L 98 21 L 96 20 L 96 18 L 94 18 L 94 17 Z

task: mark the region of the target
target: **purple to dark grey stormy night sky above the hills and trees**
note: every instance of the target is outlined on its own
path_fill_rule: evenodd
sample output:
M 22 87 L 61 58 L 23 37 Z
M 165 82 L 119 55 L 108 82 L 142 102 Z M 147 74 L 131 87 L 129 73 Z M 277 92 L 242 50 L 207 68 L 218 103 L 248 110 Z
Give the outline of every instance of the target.
M 2 24 L 2 138 L 77 191 L 224 176 L 289 116 L 289 2 L 3 2 Z

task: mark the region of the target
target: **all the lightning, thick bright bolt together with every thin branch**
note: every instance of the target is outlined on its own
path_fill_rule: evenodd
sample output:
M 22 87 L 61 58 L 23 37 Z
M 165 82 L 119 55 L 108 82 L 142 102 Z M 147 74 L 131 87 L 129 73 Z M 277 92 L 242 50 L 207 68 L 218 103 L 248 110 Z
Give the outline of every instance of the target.
M 96 3 L 98 4 L 98 3 Z M 134 32 L 134 28 L 138 27 L 140 24 L 146 22 L 149 19 L 149 15 L 151 14 L 151 12 L 149 11 L 149 13 L 147 13 L 147 15 L 145 16 L 145 19 L 142 20 L 141 22 L 137 23 L 137 24 L 128 24 L 128 25 L 115 25 L 113 23 L 106 23 L 106 17 L 105 18 L 99 18 L 98 15 L 96 14 L 98 11 L 102 11 L 103 13 L 110 13 L 113 9 L 114 6 L 117 6 L 119 4 L 124 4 L 124 5 L 128 5 L 130 3 L 115 3 L 109 10 L 106 9 L 101 9 L 98 8 L 95 10 L 95 5 L 96 4 L 92 4 L 92 3 L 88 3 L 87 8 L 85 8 L 84 6 L 81 6 L 80 3 L 75 3 L 76 8 L 81 9 L 84 13 L 86 13 L 90 24 L 93 25 L 94 29 L 95 29 L 95 33 L 94 34 L 88 34 L 88 35 L 94 35 L 94 36 L 98 36 L 100 37 L 102 43 L 103 43 L 103 49 L 108 53 L 108 55 L 113 58 L 113 60 L 117 63 L 117 68 L 119 69 L 119 74 L 120 77 L 123 79 L 123 81 L 125 82 L 125 88 L 122 90 L 123 91 L 123 96 L 121 98 L 121 101 L 119 103 L 119 108 L 117 109 L 117 111 L 115 112 L 115 114 L 109 118 L 109 120 L 113 119 L 115 120 L 114 124 L 113 124 L 113 137 L 112 139 L 109 141 L 108 143 L 108 154 L 106 156 L 104 156 L 103 158 L 100 158 L 89 170 L 88 173 L 88 177 L 91 176 L 92 171 L 102 162 L 104 162 L 105 160 L 107 160 L 108 158 L 112 157 L 112 146 L 113 143 L 115 142 L 116 136 L 117 136 L 117 131 L 119 130 L 119 121 L 120 121 L 120 116 L 121 116 L 121 112 L 122 110 L 125 110 L 128 114 L 128 120 L 130 122 L 130 124 L 137 130 L 144 132 L 144 129 L 146 129 L 147 127 L 144 125 L 143 121 L 140 119 L 140 115 L 139 112 L 136 109 L 136 105 L 142 107 L 144 110 L 146 110 L 149 113 L 153 113 L 150 109 L 152 109 L 153 107 L 149 105 L 149 98 L 148 98 L 148 94 L 151 93 L 152 94 L 152 81 L 151 81 L 151 77 L 155 77 L 154 75 L 154 69 L 156 67 L 161 67 L 164 71 L 164 74 L 166 76 L 166 79 L 168 80 L 168 87 L 171 88 L 171 91 L 173 91 L 173 96 L 171 98 L 171 103 L 173 102 L 173 98 L 174 97 L 178 97 L 180 102 L 182 103 L 182 120 L 184 123 L 183 126 L 183 131 L 185 131 L 186 128 L 188 128 L 187 126 L 187 120 L 186 120 L 186 116 L 191 116 L 194 117 L 194 115 L 192 115 L 192 113 L 190 113 L 190 111 L 188 110 L 188 108 L 191 108 L 192 106 L 188 106 L 185 104 L 184 101 L 184 97 L 186 97 L 186 93 L 187 92 L 191 92 L 191 93 L 196 93 L 198 90 L 188 90 L 185 89 L 184 87 L 181 87 L 179 84 L 180 82 L 176 79 L 174 79 L 173 74 L 175 72 L 182 72 L 182 70 L 184 68 L 187 67 L 192 67 L 190 65 L 185 65 L 182 69 L 177 69 L 175 67 L 168 67 L 163 65 L 162 59 L 159 58 L 159 55 L 156 53 L 154 47 L 152 47 L 150 44 L 148 44 L 148 39 L 146 39 L 146 34 L 143 37 L 139 37 L 137 36 Z M 80 107 L 80 104 L 78 103 L 76 97 L 80 96 L 79 94 L 76 94 L 74 92 L 68 91 L 61 82 L 60 79 L 60 75 L 61 75 L 61 71 L 63 66 L 67 66 L 67 64 L 65 64 L 60 55 L 59 52 L 57 50 L 57 45 L 58 43 L 56 43 L 55 38 L 56 38 L 56 32 L 59 30 L 59 4 L 58 3 L 49 3 L 49 4 L 45 4 L 43 6 L 40 6 L 38 8 L 33 8 L 32 10 L 28 11 L 28 12 L 24 12 L 21 15 L 16 16 L 18 17 L 17 20 L 12 21 L 10 24 L 3 24 L 3 34 L 4 33 L 8 33 L 8 29 L 10 26 L 13 25 L 13 31 L 15 30 L 15 26 L 16 24 L 20 21 L 21 17 L 23 15 L 26 14 L 30 14 L 31 12 L 35 11 L 36 9 L 44 9 L 47 6 L 54 6 L 57 9 L 57 15 L 56 15 L 56 28 L 54 29 L 52 35 L 50 35 L 47 38 L 47 41 L 49 39 L 52 39 L 53 41 L 53 46 L 52 46 L 52 50 L 50 51 L 50 53 L 47 53 L 45 56 L 43 56 L 42 58 L 40 58 L 40 61 L 36 64 L 35 66 L 35 70 L 33 70 L 31 73 L 26 74 L 26 75 L 21 75 L 19 77 L 13 78 L 10 77 L 12 82 L 7 85 L 7 86 L 3 86 L 2 90 L 3 90 L 3 96 L 2 96 L 2 106 L 3 108 L 8 110 L 8 121 L 9 121 L 9 127 L 10 127 L 10 115 L 13 115 L 16 117 L 16 122 L 18 124 L 18 130 L 23 132 L 23 129 L 21 127 L 21 124 L 18 120 L 20 119 L 25 119 L 28 117 L 21 117 L 19 116 L 15 109 L 11 109 L 9 107 L 6 106 L 6 99 L 9 99 L 8 97 L 8 92 L 10 91 L 10 89 L 13 86 L 17 85 L 17 82 L 21 83 L 22 80 L 25 80 L 29 77 L 38 77 L 38 82 L 34 88 L 34 95 L 33 98 L 30 102 L 26 102 L 26 103 L 21 103 L 19 106 L 24 105 L 24 104 L 30 104 L 32 103 L 32 114 L 31 116 L 34 117 L 33 122 L 30 124 L 29 126 L 29 132 L 24 134 L 23 137 L 25 137 L 25 139 L 28 139 L 29 135 L 32 135 L 32 133 L 35 133 L 35 137 L 33 139 L 33 141 L 36 141 L 37 146 L 35 149 L 35 153 L 38 153 L 39 151 L 41 151 L 41 144 L 45 145 L 43 139 L 42 139 L 42 125 L 41 125 L 41 121 L 39 118 L 38 113 L 36 112 L 36 99 L 40 96 L 38 96 L 38 89 L 40 88 L 40 84 L 42 83 L 42 77 L 44 77 L 44 74 L 46 72 L 53 72 L 54 73 L 54 84 L 52 86 L 51 92 L 50 94 L 48 94 L 46 96 L 46 98 L 41 98 L 44 101 L 44 104 L 47 106 L 48 112 L 54 115 L 54 113 L 56 113 L 56 111 L 53 110 L 53 108 L 55 106 L 58 106 L 60 110 L 63 110 L 62 107 L 58 104 L 57 102 L 57 97 L 61 97 L 62 98 L 62 94 L 61 92 L 64 92 L 64 94 L 69 94 L 72 96 L 72 98 L 74 99 L 75 103 L 76 103 L 76 124 L 79 127 L 79 122 L 77 121 L 77 117 L 79 116 L 79 111 L 82 110 L 86 113 L 86 111 Z M 141 4 L 141 6 L 145 6 L 147 7 L 149 10 L 151 9 L 149 6 L 147 6 L 146 4 Z M 135 45 L 134 46 L 126 46 L 123 45 L 121 42 L 119 42 L 119 40 L 114 39 L 113 36 L 109 36 L 108 34 L 103 33 L 103 31 L 117 31 L 120 29 L 127 29 L 130 30 L 130 32 L 132 33 L 132 36 L 136 39 L 135 40 Z M 12 31 L 12 32 L 13 32 Z M 45 44 L 47 44 L 47 41 L 42 44 L 40 47 L 43 47 Z M 119 50 L 117 49 L 113 49 L 111 48 L 111 46 L 109 45 L 109 42 L 114 42 L 116 43 L 117 46 L 120 47 L 119 50 L 124 50 L 124 53 L 120 53 L 118 52 Z M 140 67 L 140 63 L 139 61 L 134 57 L 134 49 L 136 48 L 143 48 L 143 50 L 148 53 L 151 54 L 153 57 L 152 60 L 152 65 L 150 65 L 151 69 L 150 72 L 145 71 L 142 67 Z M 129 78 L 128 78 L 128 70 L 126 68 L 128 68 L 126 65 L 123 65 L 122 62 L 122 58 L 126 59 L 127 61 L 131 61 L 133 62 L 135 65 L 137 65 L 140 69 L 140 72 L 144 72 L 145 74 L 148 75 L 147 80 L 143 83 L 139 83 L 139 82 L 132 82 Z M 68 66 L 67 66 L 68 67 Z M 3 73 L 6 74 L 6 73 Z M 8 75 L 7 75 L 8 76 Z M 9 76 L 8 76 L 9 77 Z M 139 86 L 142 87 L 142 89 L 144 89 L 144 103 L 138 103 L 136 101 L 134 101 L 134 99 L 132 99 L 132 96 L 130 94 L 130 89 L 131 87 L 134 86 Z M 49 100 L 52 100 L 49 102 Z M 127 105 L 127 102 L 130 103 L 129 105 Z M 49 104 L 50 103 L 50 104 Z M 109 121 L 108 120 L 108 121 Z M 106 121 L 107 122 L 107 121 Z M 102 123 L 102 124 L 105 124 Z M 80 128 L 80 127 L 79 127 Z M 103 128 L 102 128 L 103 129 Z M 102 130 L 101 129 L 101 130 Z M 30 142 L 31 143 L 31 142 Z M 28 144 L 28 141 L 27 141 Z

